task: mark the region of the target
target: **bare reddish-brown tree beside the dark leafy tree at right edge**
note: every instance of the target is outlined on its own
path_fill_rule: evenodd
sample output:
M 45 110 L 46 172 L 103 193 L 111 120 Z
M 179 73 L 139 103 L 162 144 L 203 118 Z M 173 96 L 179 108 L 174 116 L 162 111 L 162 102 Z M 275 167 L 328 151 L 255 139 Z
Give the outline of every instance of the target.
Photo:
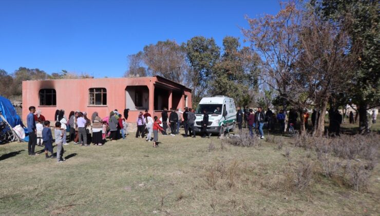
M 315 104 L 320 116 L 314 136 L 322 136 L 325 130 L 325 113 L 330 97 L 347 91 L 347 83 L 354 75 L 353 68 L 357 59 L 355 50 L 345 29 L 323 21 L 315 13 L 303 16 L 299 32 L 301 47 L 297 68 L 305 81 L 309 97 Z M 317 112 L 319 113 L 319 112 Z

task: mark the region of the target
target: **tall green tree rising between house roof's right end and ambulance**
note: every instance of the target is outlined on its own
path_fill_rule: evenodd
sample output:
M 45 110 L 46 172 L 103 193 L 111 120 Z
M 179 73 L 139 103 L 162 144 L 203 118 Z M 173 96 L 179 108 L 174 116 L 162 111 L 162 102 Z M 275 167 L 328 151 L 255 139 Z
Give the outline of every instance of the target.
M 193 88 L 193 102 L 197 103 L 207 94 L 214 66 L 220 58 L 220 48 L 213 38 L 202 36 L 187 41 L 186 56 L 191 66 L 188 74 L 189 87 Z

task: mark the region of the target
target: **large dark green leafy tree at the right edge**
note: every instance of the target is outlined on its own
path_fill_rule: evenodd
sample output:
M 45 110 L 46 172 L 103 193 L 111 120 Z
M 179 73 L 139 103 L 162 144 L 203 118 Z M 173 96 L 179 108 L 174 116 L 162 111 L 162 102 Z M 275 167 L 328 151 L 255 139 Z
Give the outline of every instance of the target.
M 313 0 L 311 5 L 331 23 L 346 28 L 358 52 L 355 73 L 347 85 L 347 103 L 358 105 L 360 133 L 368 131 L 367 110 L 380 105 L 380 2 L 376 0 Z M 350 100 L 350 101 L 349 101 Z

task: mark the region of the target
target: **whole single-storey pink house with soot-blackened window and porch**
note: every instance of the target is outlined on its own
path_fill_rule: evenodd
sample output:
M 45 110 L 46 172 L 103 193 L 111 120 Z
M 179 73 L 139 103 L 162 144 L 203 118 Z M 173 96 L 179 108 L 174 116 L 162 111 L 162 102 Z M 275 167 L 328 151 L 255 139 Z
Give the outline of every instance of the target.
M 60 79 L 23 81 L 23 120 L 28 107 L 41 110 L 54 120 L 55 110 L 98 112 L 101 118 L 115 109 L 129 109 L 128 122 L 136 122 L 140 111 L 161 117 L 163 107 L 192 105 L 192 90 L 160 76 L 135 78 Z M 123 116 L 124 117 L 124 116 Z

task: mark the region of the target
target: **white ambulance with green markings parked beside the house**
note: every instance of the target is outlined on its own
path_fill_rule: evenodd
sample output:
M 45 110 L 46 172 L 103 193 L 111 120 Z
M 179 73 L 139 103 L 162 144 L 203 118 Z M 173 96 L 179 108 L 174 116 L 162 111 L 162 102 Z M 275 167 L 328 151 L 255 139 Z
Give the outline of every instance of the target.
M 220 136 L 227 128 L 229 131 L 234 131 L 236 123 L 234 99 L 225 96 L 202 98 L 195 111 L 195 132 L 202 131 L 203 110 L 208 113 L 207 131 L 209 133 Z

